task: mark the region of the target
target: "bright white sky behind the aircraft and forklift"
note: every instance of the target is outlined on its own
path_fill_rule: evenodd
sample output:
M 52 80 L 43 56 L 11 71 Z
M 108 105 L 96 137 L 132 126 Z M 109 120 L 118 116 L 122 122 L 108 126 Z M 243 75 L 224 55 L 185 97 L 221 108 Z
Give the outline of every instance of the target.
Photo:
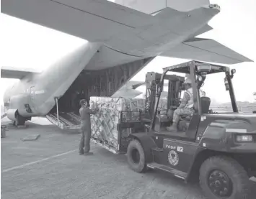
M 215 0 L 221 12 L 208 23 L 213 30 L 198 37 L 210 38 L 256 61 L 256 1 L 254 0 Z M 0 65 L 14 68 L 47 69 L 52 63 L 84 44 L 85 40 L 41 27 L 5 14 L 0 14 Z M 187 60 L 170 57 L 156 57 L 132 80 L 145 78 L 146 72 L 162 73 L 162 68 L 183 63 Z M 234 76 L 234 91 L 237 101 L 253 101 L 256 91 L 256 63 L 231 65 L 237 73 Z M 18 80 L 1 78 L 0 101 L 7 86 Z M 224 76 L 208 78 L 203 90 L 219 102 L 229 101 L 224 89 Z

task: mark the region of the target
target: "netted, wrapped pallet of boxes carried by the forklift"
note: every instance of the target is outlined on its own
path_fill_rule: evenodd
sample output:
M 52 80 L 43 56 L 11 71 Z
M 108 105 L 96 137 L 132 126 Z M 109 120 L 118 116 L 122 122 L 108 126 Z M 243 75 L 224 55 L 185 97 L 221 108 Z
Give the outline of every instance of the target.
M 110 152 L 125 151 L 128 135 L 141 129 L 144 99 L 91 97 L 90 104 L 99 111 L 91 116 L 92 141 Z

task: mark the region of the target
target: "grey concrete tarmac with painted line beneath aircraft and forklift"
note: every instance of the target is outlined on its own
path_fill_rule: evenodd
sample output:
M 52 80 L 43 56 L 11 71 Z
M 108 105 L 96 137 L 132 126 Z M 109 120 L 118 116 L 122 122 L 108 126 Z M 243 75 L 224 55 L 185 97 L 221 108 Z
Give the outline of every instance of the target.
M 28 124 L 27 129 L 10 126 L 1 139 L 4 199 L 203 198 L 198 185 L 185 184 L 165 172 L 138 174 L 128 168 L 125 155 L 112 154 L 97 145 L 92 144 L 93 156 L 79 156 L 80 134 L 47 122 Z M 40 134 L 40 138 L 21 140 L 30 134 Z

